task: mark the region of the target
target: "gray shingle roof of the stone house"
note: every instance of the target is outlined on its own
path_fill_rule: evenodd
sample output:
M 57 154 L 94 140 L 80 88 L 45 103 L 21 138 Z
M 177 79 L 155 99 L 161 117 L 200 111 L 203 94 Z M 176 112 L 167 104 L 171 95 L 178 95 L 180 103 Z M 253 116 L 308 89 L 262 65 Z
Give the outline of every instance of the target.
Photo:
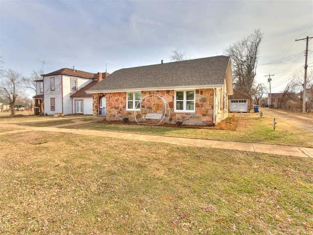
M 88 93 L 222 86 L 229 63 L 228 56 L 214 56 L 121 69 L 94 85 Z

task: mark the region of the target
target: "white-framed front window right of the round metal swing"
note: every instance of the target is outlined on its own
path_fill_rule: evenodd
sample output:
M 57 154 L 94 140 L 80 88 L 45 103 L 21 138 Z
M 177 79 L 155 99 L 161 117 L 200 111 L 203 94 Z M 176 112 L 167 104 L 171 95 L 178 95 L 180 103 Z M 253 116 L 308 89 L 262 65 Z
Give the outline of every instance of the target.
M 175 92 L 175 112 L 193 113 L 195 112 L 196 95 L 195 91 Z

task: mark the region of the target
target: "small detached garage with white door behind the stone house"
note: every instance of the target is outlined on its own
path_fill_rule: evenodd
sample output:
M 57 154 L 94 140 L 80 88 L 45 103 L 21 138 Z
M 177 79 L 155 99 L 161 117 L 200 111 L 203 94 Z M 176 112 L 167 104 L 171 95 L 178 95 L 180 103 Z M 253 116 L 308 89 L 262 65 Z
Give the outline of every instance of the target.
M 249 113 L 252 107 L 252 98 L 246 94 L 234 89 L 234 94 L 229 95 L 229 112 L 236 113 Z

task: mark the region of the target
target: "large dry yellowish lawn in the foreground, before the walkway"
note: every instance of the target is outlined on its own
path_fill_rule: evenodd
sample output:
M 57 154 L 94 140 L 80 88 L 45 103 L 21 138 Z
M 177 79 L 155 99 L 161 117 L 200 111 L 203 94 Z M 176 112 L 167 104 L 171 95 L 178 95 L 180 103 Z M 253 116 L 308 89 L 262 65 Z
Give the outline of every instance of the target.
M 0 142 L 0 234 L 313 231 L 312 159 L 63 133 Z

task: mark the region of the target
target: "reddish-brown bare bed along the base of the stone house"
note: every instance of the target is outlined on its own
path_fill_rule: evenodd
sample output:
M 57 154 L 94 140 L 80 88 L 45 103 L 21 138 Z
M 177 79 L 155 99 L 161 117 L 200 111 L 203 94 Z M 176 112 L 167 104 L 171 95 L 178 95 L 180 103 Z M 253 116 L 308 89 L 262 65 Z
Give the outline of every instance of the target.
M 169 126 L 169 127 L 180 127 L 180 128 L 198 128 L 198 129 L 219 129 L 219 130 L 236 130 L 238 122 L 240 118 L 231 117 L 225 118 L 221 122 L 219 122 L 215 126 L 201 126 L 201 125 L 176 125 L 176 124 L 159 124 L 159 126 Z M 107 120 L 100 120 L 96 121 L 96 123 L 114 123 L 114 124 L 135 124 L 135 125 L 153 125 L 149 123 L 137 123 L 137 122 L 130 122 L 130 121 L 107 121 Z

